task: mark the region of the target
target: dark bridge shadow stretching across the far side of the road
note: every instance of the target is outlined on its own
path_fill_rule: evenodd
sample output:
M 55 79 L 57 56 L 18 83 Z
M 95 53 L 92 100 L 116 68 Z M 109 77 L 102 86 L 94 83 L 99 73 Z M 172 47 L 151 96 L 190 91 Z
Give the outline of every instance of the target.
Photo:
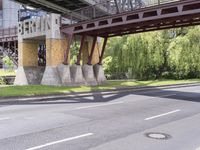
M 191 87 L 196 87 L 199 89 L 199 93 L 190 91 Z M 188 88 L 188 91 L 181 91 L 176 89 Z M 184 101 L 193 101 L 200 102 L 200 85 L 185 85 L 185 86 L 177 86 L 175 88 L 158 88 L 154 87 L 151 89 L 140 89 L 139 91 L 133 90 L 117 90 L 116 92 L 110 92 L 109 94 L 105 94 L 102 92 L 94 92 L 87 96 L 76 96 L 76 93 L 70 93 L 70 95 L 75 95 L 74 97 L 66 98 L 49 98 L 42 100 L 27 100 L 27 101 L 15 101 L 15 102 L 0 102 L 0 105 L 47 105 L 47 104 L 73 104 L 73 103 L 95 103 L 95 102 L 111 102 L 113 100 L 123 98 L 128 95 L 140 95 L 140 96 L 149 96 L 149 97 L 157 97 L 176 100 L 184 100 Z M 167 96 L 168 95 L 168 96 Z

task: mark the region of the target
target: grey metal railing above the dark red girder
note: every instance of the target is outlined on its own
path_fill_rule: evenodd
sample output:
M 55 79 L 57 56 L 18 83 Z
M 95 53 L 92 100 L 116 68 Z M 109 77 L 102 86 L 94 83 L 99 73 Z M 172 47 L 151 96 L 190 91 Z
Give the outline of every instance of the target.
M 70 24 L 180 0 L 99 0 L 99 3 L 74 10 L 67 17 Z M 82 18 L 76 18 L 80 14 Z

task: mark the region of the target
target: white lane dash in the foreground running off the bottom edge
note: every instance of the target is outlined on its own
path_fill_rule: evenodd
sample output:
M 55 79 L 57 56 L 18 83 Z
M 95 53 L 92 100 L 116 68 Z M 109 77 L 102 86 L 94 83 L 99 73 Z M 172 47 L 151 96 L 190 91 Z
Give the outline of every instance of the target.
M 68 142 L 68 141 L 72 141 L 72 140 L 76 140 L 76 139 L 80 139 L 80 138 L 84 138 L 84 137 L 88 137 L 88 136 L 92 136 L 92 135 L 93 135 L 93 133 L 82 134 L 82 135 L 79 135 L 79 136 L 70 137 L 70 138 L 67 138 L 67 139 L 54 141 L 54 142 L 51 142 L 51 143 L 46 143 L 46 144 L 43 144 L 43 145 L 40 145 L 40 146 L 28 148 L 28 149 L 25 149 L 25 150 L 37 150 L 37 149 L 41 149 L 41 148 L 48 147 L 48 146 L 51 146 L 51 145 L 55 145 L 55 144 L 59 144 L 59 143 L 63 143 L 63 142 Z

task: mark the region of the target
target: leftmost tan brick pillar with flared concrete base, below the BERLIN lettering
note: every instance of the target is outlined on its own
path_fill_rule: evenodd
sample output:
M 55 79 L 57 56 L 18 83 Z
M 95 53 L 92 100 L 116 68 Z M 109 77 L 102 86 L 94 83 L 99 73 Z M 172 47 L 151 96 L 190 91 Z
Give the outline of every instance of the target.
M 23 40 L 18 47 L 19 66 L 14 84 L 40 84 L 44 68 L 38 67 L 38 42 Z

